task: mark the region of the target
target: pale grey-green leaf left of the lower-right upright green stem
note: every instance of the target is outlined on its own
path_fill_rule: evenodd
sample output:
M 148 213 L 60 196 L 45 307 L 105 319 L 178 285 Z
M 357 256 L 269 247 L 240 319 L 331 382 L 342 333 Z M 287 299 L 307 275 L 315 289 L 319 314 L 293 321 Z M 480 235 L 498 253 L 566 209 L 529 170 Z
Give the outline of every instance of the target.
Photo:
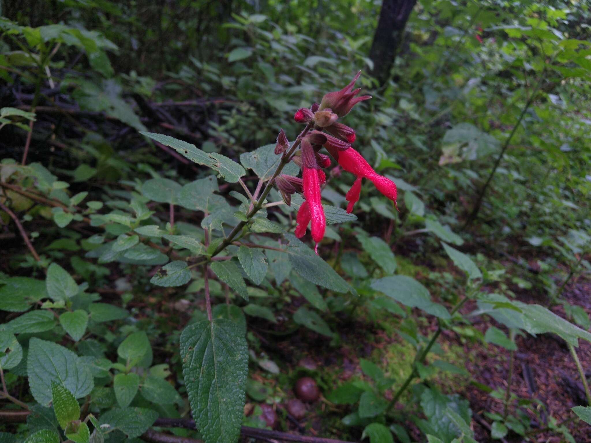
M 450 318 L 446 308 L 431 301 L 429 291 L 418 281 L 406 275 L 394 275 L 376 279 L 371 287 L 376 291 L 383 292 L 388 297 L 395 299 L 405 306 L 419 308 L 427 314 L 435 315 L 439 318 Z

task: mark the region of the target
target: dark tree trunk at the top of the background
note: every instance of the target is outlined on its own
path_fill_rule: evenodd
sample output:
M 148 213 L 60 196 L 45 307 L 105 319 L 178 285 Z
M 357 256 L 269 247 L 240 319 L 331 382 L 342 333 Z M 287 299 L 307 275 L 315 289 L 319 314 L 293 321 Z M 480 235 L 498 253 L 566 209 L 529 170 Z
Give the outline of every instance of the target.
M 369 58 L 374 62 L 371 74 L 379 84 L 387 82 L 394 64 L 398 47 L 402 42 L 404 27 L 413 12 L 417 0 L 383 0 L 379 12 L 378 27 L 369 50 Z

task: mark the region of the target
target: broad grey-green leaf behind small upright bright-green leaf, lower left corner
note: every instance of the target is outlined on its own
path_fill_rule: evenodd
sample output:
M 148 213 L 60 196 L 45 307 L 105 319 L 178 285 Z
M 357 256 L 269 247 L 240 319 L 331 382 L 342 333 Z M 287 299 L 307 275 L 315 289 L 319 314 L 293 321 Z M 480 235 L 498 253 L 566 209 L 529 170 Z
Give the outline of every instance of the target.
M 69 349 L 51 341 L 33 337 L 27 356 L 29 387 L 37 402 L 47 406 L 51 402 L 51 381 L 82 398 L 94 386 L 90 369 Z

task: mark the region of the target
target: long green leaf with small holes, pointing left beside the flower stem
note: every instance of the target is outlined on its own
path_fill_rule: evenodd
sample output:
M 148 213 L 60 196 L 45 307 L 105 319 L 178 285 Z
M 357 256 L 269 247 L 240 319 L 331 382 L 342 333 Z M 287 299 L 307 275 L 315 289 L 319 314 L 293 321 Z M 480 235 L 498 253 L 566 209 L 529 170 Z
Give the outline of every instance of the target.
M 246 174 L 246 171 L 241 165 L 232 159 L 225 157 L 225 155 L 217 154 L 216 152 L 207 154 L 207 152 L 202 151 L 193 144 L 177 140 L 176 138 L 168 135 L 152 132 L 140 133 L 163 145 L 170 146 L 179 154 L 184 155 L 184 157 L 187 157 L 197 164 L 212 168 L 213 170 L 219 172 L 219 174 L 230 183 L 236 183 L 238 179 L 242 177 L 242 175 Z

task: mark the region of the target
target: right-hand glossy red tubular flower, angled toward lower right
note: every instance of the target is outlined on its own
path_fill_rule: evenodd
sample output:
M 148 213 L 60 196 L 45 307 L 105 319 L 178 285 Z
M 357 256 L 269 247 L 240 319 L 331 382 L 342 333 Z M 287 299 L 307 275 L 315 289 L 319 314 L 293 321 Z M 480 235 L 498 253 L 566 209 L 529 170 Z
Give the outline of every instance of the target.
M 353 183 L 353 186 L 345 196 L 345 198 L 349 201 L 347 206 L 348 213 L 353 210 L 353 206 L 355 205 L 356 201 L 359 200 L 362 177 L 371 180 L 375 187 L 378 188 L 378 191 L 380 191 L 390 200 L 394 201 L 394 204 L 396 204 L 397 190 L 394 182 L 389 178 L 384 177 L 384 175 L 379 175 L 377 172 L 375 172 L 374 168 L 372 168 L 369 163 L 365 161 L 365 158 L 363 158 L 363 156 L 359 154 L 358 151 L 355 151 L 353 148 L 339 150 L 336 148 L 336 146 L 330 146 L 328 142 L 324 145 L 324 147 L 328 149 L 330 154 L 335 157 L 336 161 L 339 162 L 339 165 L 341 165 L 345 171 L 351 172 L 357 176 L 355 183 Z

